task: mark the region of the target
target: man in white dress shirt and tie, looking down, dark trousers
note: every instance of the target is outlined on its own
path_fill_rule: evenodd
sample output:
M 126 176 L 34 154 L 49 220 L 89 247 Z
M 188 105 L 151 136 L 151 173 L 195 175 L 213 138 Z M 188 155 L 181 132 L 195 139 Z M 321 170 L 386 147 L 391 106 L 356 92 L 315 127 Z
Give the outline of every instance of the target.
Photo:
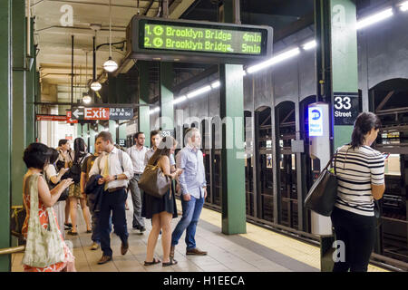
M 121 237 L 121 255 L 125 255 L 129 248 L 125 201 L 128 180 L 133 177 L 133 167 L 129 155 L 113 145 L 110 132 L 102 131 L 99 133 L 96 137 L 96 146 L 99 146 L 103 154 L 93 163 L 89 176 L 102 175 L 98 184 L 104 184 L 102 207 L 97 227 L 100 230 L 103 252 L 98 264 L 105 264 L 112 260 L 111 230 L 109 227 L 111 210 L 114 232 Z

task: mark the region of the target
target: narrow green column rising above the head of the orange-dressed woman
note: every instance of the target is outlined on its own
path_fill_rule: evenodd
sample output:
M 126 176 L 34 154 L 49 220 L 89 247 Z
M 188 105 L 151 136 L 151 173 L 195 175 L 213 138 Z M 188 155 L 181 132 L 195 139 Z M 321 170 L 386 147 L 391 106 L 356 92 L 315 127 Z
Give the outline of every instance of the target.
M 34 19 L 31 18 L 31 47 L 30 47 L 30 56 L 35 58 L 35 47 L 34 47 Z M 28 68 L 29 69 L 29 68 Z M 26 145 L 33 143 L 35 140 L 34 137 L 34 94 L 35 94 L 35 81 L 36 81 L 36 63 L 33 62 L 33 66 L 30 71 L 27 72 L 27 95 L 26 95 Z

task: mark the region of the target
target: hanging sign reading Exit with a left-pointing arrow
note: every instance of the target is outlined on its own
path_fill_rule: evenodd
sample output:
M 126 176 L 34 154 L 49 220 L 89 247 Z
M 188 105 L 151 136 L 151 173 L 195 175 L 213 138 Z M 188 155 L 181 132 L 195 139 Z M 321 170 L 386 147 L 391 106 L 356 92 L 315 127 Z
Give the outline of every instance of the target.
M 130 120 L 132 108 L 80 108 L 73 107 L 73 120 Z

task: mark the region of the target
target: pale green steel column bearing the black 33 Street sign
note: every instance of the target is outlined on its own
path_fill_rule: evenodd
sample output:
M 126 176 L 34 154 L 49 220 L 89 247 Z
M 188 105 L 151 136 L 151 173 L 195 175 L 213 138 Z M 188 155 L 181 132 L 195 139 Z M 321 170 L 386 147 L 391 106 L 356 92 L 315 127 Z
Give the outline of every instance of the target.
M 352 0 L 331 0 L 331 50 L 333 92 L 346 92 L 358 96 L 357 61 L 357 13 Z M 335 96 L 332 95 L 332 98 Z M 348 106 L 332 99 L 334 105 Z M 344 102 L 342 100 L 342 102 Z M 357 104 L 358 105 L 358 104 Z M 356 117 L 356 116 L 354 116 Z M 354 120 L 353 120 L 354 121 Z M 334 131 L 335 149 L 350 142 L 353 125 L 336 125 Z

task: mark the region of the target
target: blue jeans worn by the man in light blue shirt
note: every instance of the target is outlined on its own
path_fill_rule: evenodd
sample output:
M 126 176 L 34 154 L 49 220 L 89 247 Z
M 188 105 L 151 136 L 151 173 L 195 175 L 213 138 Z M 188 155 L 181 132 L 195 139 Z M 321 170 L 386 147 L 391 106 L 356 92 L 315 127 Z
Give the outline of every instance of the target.
M 201 209 L 204 206 L 204 198 L 194 198 L 190 196 L 189 201 L 185 201 L 181 197 L 181 207 L 183 208 L 183 216 L 174 228 L 171 234 L 171 246 L 176 246 L 179 244 L 179 239 L 186 231 L 186 245 L 187 249 L 193 249 L 196 247 L 196 228 L 199 222 L 199 215 L 201 214 Z

